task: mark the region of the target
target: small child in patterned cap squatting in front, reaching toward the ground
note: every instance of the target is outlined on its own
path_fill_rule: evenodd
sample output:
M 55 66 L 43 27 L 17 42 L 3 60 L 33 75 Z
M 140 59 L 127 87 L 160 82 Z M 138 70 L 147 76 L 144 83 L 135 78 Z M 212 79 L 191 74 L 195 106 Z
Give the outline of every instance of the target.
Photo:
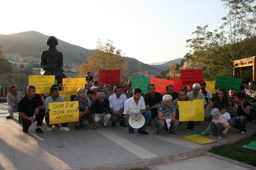
M 227 122 L 226 119 L 222 118 L 220 116 L 220 110 L 217 108 L 212 109 L 211 115 L 213 116 L 213 119 L 211 123 L 209 124 L 209 127 L 202 132 L 202 135 L 205 135 L 209 129 L 212 130 L 212 135 L 209 135 L 210 137 L 217 136 L 218 139 L 222 139 L 223 135 L 227 133 L 227 131 L 230 128 L 230 124 Z

